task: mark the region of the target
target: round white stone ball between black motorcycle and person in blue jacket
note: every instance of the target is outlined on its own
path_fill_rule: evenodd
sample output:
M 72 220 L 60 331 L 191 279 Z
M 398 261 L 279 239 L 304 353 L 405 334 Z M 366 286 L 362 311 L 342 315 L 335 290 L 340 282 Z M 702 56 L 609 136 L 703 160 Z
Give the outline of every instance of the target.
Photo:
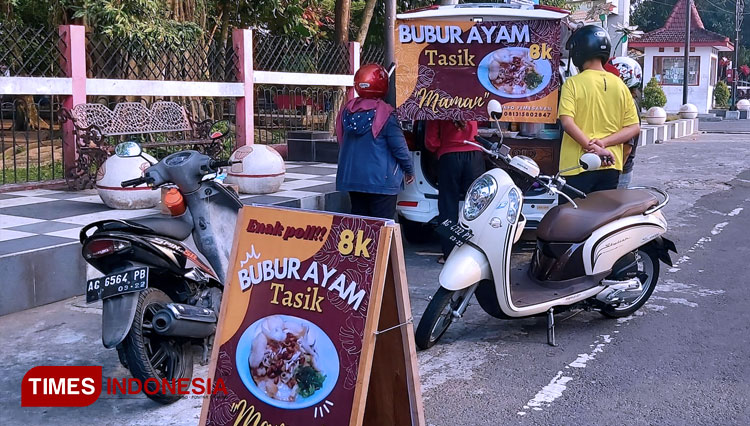
M 243 194 L 271 194 L 277 192 L 284 183 L 286 164 L 281 155 L 266 145 L 245 145 L 238 148 L 227 172 L 226 182 L 237 185 Z

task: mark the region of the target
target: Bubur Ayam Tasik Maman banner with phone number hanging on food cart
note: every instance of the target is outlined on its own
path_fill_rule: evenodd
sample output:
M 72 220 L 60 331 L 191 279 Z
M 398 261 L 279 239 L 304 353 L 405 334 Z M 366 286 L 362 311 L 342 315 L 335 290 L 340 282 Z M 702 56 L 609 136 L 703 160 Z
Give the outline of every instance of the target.
M 559 20 L 396 23 L 396 105 L 402 120 L 554 123 L 560 78 Z

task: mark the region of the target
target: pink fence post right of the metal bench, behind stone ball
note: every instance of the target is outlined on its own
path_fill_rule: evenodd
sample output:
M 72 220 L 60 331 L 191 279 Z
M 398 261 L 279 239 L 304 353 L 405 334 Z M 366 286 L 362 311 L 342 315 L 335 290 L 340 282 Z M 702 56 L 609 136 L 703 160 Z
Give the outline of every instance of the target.
M 253 31 L 235 28 L 232 43 L 237 52 L 237 79 L 242 83 L 244 96 L 237 98 L 237 147 L 255 141 L 253 123 Z

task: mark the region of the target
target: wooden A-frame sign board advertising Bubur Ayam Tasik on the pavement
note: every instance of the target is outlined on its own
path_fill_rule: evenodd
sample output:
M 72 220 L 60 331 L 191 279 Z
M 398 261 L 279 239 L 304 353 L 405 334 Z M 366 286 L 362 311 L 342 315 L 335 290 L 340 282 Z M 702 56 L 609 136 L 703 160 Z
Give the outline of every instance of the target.
M 245 207 L 201 425 L 424 425 L 398 225 Z

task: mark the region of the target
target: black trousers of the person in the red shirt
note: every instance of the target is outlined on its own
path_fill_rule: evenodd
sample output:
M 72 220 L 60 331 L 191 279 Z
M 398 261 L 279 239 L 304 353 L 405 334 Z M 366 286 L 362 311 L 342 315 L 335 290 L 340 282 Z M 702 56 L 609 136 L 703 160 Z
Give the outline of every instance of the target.
M 458 203 L 476 178 L 485 171 L 484 157 L 480 151 L 449 152 L 440 156 L 438 171 L 438 220 L 450 219 L 458 223 Z M 440 239 L 443 255 L 448 256 L 454 244 Z

